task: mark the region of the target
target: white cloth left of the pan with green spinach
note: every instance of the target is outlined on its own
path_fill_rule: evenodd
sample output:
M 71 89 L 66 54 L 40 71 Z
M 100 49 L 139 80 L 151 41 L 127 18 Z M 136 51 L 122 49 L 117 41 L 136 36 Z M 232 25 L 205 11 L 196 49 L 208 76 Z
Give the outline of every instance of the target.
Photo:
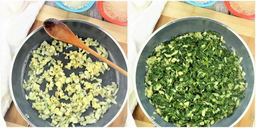
M 132 113 L 137 105 L 137 99 L 133 89 L 133 69 L 135 65 L 135 60 L 139 50 L 142 48 L 143 44 L 146 43 L 148 37 L 153 32 L 153 29 L 165 7 L 167 1 L 136 1 L 129 3 L 129 24 L 131 29 L 129 29 L 129 56 L 128 56 L 128 66 L 129 66 L 129 124 L 131 127 L 136 127 L 134 119 L 132 118 Z

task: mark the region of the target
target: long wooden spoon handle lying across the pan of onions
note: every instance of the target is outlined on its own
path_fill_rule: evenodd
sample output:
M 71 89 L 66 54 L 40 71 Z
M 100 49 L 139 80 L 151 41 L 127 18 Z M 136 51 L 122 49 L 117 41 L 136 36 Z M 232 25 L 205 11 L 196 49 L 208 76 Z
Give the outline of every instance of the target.
M 109 61 L 108 59 L 104 58 L 103 56 L 101 56 L 100 54 L 98 54 L 97 52 L 95 52 L 93 49 L 89 48 L 88 46 L 86 46 L 81 40 L 79 40 L 81 43 L 77 43 L 75 44 L 77 47 L 80 47 L 84 50 L 86 50 L 87 52 L 89 52 L 90 54 L 94 55 L 95 57 L 99 58 L 101 61 L 107 63 L 109 66 L 111 66 L 112 68 L 114 68 L 115 70 L 117 70 L 118 72 L 124 74 L 125 76 L 127 76 L 127 72 L 120 68 L 119 66 L 115 65 L 113 62 Z

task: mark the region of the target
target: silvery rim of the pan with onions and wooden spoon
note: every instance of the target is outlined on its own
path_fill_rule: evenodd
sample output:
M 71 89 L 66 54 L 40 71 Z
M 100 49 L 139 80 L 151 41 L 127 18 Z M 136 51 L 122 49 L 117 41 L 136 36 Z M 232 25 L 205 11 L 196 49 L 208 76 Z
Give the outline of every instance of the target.
M 127 58 L 126 58 L 126 55 L 125 55 L 125 52 L 123 50 L 123 48 L 120 46 L 120 44 L 117 42 L 117 40 L 109 33 L 107 32 L 106 30 L 104 30 L 103 28 L 91 23 L 91 22 L 87 22 L 85 20 L 81 20 L 81 19 L 60 19 L 60 21 L 62 22 L 81 22 L 81 23 L 85 23 L 85 24 L 89 24 L 91 26 L 94 26 L 98 29 L 100 29 L 101 31 L 103 31 L 105 34 L 107 34 L 114 42 L 115 44 L 118 46 L 119 50 L 121 51 L 124 59 L 125 59 L 125 64 L 126 64 L 126 67 L 128 69 L 128 66 L 127 66 Z M 12 62 L 11 62 L 11 68 L 10 68 L 10 72 L 9 72 L 9 87 L 10 87 L 10 92 L 11 92 L 11 96 L 12 96 L 12 100 L 13 100 L 13 103 L 16 107 L 16 109 L 18 110 L 19 114 L 24 118 L 24 120 L 26 120 L 26 122 L 33 126 L 33 127 L 37 127 L 35 126 L 32 122 L 30 122 L 28 120 L 28 118 L 25 116 L 25 114 L 22 113 L 22 111 L 19 109 L 19 106 L 15 100 L 15 97 L 14 97 L 14 94 L 13 94 L 13 89 L 12 89 L 12 70 L 13 70 L 13 65 L 14 65 L 14 61 L 18 55 L 18 52 L 20 51 L 20 48 L 25 44 L 25 42 L 37 31 L 41 30 L 43 28 L 43 25 L 38 27 L 37 29 L 35 29 L 34 31 L 32 31 L 29 35 L 27 35 L 27 37 L 24 39 L 24 41 L 22 42 L 22 44 L 19 45 L 19 47 L 16 49 L 15 51 L 15 54 L 13 56 L 13 59 L 12 59 Z M 127 85 L 128 86 L 128 85 Z M 122 106 L 120 107 L 119 111 L 116 113 L 116 115 L 110 120 L 109 123 L 107 123 L 105 126 L 103 127 L 108 127 L 111 123 L 114 122 L 114 120 L 120 115 L 120 113 L 122 112 L 122 110 L 124 109 L 124 106 L 126 104 L 126 101 L 127 101 L 127 94 L 128 94 L 128 88 L 126 90 L 126 94 L 125 94 L 125 99 L 124 99 L 124 102 L 122 103 Z

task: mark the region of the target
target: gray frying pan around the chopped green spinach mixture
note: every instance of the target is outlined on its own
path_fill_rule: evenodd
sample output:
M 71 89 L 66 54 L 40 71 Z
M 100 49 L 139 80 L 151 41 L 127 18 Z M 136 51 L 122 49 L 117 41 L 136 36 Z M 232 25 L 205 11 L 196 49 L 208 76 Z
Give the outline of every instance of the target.
M 215 123 L 211 127 L 232 127 L 236 125 L 240 119 L 245 115 L 249 109 L 253 97 L 254 97 L 254 61 L 250 49 L 243 41 L 243 39 L 234 32 L 228 26 L 217 22 L 216 20 L 205 18 L 205 17 L 185 17 L 173 20 L 162 27 L 158 28 L 150 38 L 146 41 L 144 47 L 139 52 L 136 60 L 136 65 L 134 67 L 134 90 L 141 106 L 141 109 L 145 115 L 158 127 L 176 127 L 172 123 L 167 123 L 161 116 L 153 112 L 155 111 L 155 106 L 148 102 L 148 98 L 144 95 L 145 93 L 145 74 L 146 74 L 146 62 L 145 60 L 151 55 L 151 51 L 154 51 L 156 45 L 161 42 L 170 41 L 173 35 L 181 35 L 187 32 L 197 32 L 213 30 L 220 33 L 224 40 L 226 40 L 226 47 L 232 46 L 239 56 L 243 57 L 241 63 L 244 72 L 246 73 L 246 82 L 248 82 L 248 87 L 244 91 L 245 97 L 241 100 L 241 105 L 239 108 L 234 110 L 233 115 L 223 118 L 219 122 Z M 229 49 L 231 51 L 231 49 Z M 143 78 L 143 79 L 142 79 Z M 153 119 L 152 116 L 155 118 Z

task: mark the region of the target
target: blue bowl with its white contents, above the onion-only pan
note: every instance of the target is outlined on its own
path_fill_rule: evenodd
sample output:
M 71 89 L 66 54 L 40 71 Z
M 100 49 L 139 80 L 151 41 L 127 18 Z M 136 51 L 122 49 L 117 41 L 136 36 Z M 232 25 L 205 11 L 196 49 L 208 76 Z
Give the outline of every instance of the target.
M 85 12 L 93 6 L 95 1 L 55 1 L 61 8 L 69 12 Z

